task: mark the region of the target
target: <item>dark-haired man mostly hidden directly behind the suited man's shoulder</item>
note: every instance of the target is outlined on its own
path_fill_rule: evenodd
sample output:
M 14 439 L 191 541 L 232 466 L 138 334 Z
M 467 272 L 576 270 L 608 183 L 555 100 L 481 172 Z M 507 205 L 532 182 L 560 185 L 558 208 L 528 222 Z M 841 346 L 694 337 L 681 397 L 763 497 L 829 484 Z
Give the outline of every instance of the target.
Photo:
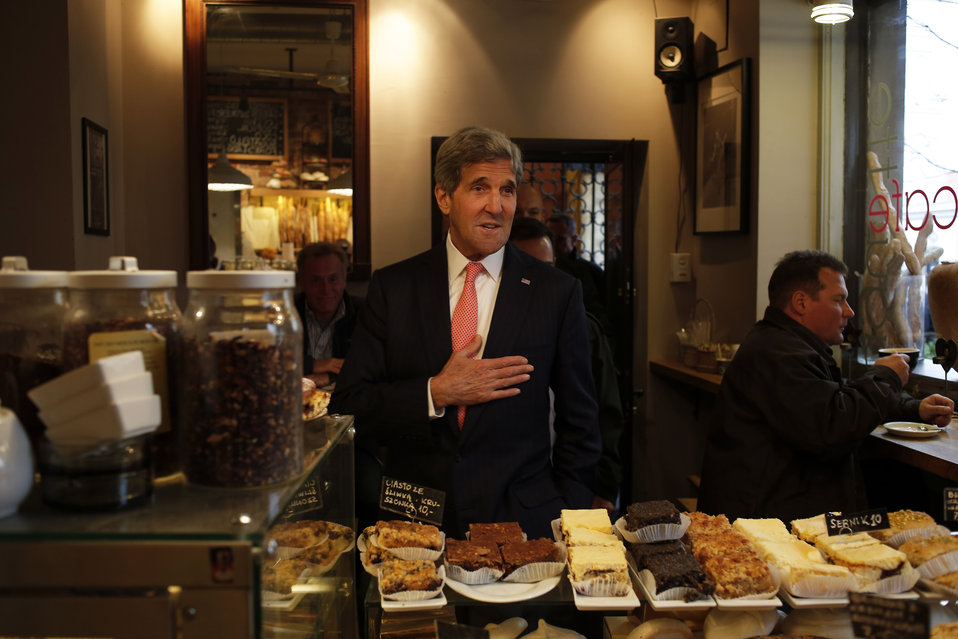
M 512 223 L 509 241 L 520 251 L 546 264 L 555 264 L 552 233 L 542 222 L 533 218 L 516 218 Z M 586 312 L 589 335 L 589 353 L 592 360 L 592 379 L 599 402 L 599 431 L 602 433 L 602 457 L 596 469 L 593 508 L 605 508 L 614 517 L 618 508 L 623 471 L 621 449 L 625 416 L 619 394 L 619 376 L 615 356 L 598 318 Z

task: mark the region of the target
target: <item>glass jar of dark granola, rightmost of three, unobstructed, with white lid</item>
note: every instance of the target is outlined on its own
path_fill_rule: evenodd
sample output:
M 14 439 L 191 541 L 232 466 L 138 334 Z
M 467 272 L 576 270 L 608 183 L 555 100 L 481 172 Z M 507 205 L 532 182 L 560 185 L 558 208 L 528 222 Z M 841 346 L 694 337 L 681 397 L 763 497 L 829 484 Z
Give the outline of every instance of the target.
M 289 271 L 193 271 L 183 340 L 184 466 L 266 486 L 303 468 L 303 328 Z

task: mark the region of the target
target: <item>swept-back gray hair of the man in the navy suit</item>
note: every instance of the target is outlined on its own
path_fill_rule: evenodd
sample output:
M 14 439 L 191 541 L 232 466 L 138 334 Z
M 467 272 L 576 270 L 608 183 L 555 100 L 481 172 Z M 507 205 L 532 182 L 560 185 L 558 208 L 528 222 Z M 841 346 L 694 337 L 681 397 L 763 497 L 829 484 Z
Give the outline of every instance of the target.
M 516 174 L 516 184 L 522 179 L 522 151 L 505 133 L 482 126 L 459 129 L 436 152 L 433 178 L 446 193 L 459 187 L 462 168 L 477 162 L 509 160 Z

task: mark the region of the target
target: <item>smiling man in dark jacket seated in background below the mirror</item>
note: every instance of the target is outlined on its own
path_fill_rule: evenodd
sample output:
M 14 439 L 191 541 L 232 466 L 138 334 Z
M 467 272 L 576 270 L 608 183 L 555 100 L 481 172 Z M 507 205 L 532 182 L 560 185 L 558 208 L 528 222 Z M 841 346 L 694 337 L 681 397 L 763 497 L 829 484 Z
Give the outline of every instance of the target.
M 303 320 L 303 375 L 335 381 L 349 350 L 361 300 L 346 292 L 348 258 L 330 242 L 307 244 L 296 259 L 296 310 Z

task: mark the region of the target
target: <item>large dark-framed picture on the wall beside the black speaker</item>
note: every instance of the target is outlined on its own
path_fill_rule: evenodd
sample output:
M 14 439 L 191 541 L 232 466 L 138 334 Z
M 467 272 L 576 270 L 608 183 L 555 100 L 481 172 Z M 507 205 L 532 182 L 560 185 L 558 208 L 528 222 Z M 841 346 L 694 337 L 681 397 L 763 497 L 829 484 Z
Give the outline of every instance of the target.
M 698 81 L 696 235 L 748 232 L 750 62 L 733 62 Z

